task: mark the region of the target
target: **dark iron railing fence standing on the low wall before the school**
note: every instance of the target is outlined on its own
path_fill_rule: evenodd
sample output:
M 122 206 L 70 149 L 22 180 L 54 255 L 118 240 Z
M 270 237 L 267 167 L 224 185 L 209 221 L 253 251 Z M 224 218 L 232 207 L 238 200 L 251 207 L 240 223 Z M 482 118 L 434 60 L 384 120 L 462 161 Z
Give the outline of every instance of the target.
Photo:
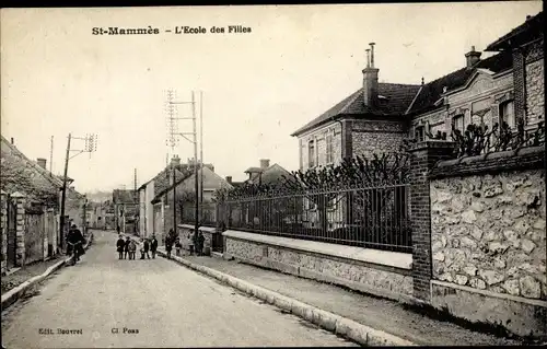
M 228 199 L 228 229 L 301 240 L 411 252 L 408 185 Z M 221 223 L 222 224 L 222 223 Z

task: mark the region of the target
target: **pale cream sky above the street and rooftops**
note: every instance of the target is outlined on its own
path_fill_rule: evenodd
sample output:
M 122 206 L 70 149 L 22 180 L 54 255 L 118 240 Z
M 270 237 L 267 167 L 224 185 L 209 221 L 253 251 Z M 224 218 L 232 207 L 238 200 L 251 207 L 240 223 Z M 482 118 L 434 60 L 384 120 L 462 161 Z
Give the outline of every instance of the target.
M 1 9 L 1 133 L 62 173 L 67 139 L 97 133 L 97 150 L 69 162 L 81 191 L 148 182 L 165 167 L 166 90 L 203 100 L 203 161 L 221 176 L 269 159 L 298 170 L 298 128 L 362 84 L 376 43 L 381 82 L 419 84 L 464 67 L 542 11 L 540 1 L 199 8 Z M 210 33 L 242 25 L 251 33 Z M 159 28 L 155 35 L 92 35 L 93 27 Z M 176 26 L 206 34 L 175 34 Z M 171 30 L 171 33 L 166 33 Z M 491 54 L 490 54 L 491 55 Z M 482 57 L 490 56 L 487 53 Z M 177 117 L 191 117 L 188 104 Z M 193 124 L 179 119 L 178 131 Z M 199 123 L 198 123 L 199 133 Z M 183 162 L 194 146 L 182 139 Z M 73 139 L 71 149 L 83 149 Z M 71 152 L 75 155 L 77 152 Z

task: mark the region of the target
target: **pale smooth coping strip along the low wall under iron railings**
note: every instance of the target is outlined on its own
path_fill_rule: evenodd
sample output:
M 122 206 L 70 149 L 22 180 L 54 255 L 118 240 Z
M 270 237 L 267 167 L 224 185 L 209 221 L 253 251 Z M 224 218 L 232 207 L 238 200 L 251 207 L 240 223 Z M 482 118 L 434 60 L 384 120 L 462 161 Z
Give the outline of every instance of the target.
M 222 233 L 222 235 L 228 237 L 234 237 L 240 240 L 274 245 L 274 246 L 288 247 L 305 252 L 318 253 L 323 255 L 330 255 L 347 259 L 360 260 L 364 263 L 384 265 L 400 269 L 408 269 L 408 270 L 412 269 L 412 255 L 400 252 L 344 246 L 344 245 L 322 243 L 316 241 L 270 236 L 257 233 L 246 233 L 235 230 L 226 230 L 225 232 Z

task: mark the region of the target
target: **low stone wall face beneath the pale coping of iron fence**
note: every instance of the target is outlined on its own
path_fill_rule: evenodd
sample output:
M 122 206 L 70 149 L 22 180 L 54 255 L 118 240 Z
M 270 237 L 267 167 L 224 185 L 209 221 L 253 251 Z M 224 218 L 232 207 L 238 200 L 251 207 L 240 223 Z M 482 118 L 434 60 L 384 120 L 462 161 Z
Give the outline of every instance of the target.
M 225 254 L 249 264 L 405 302 L 412 294 L 410 270 L 224 236 Z

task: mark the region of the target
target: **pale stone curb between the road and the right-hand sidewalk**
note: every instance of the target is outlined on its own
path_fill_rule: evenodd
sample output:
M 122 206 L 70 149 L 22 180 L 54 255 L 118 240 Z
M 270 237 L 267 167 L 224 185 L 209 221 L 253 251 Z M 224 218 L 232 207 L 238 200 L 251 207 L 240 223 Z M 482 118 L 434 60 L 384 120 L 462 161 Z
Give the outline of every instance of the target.
M 165 252 L 159 249 L 158 255 L 165 257 L 166 254 Z M 178 264 L 228 283 L 240 291 L 286 310 L 299 317 L 304 318 L 305 321 L 309 321 L 336 335 L 349 338 L 362 346 L 417 346 L 409 340 L 359 324 L 350 318 L 323 311 L 310 304 L 293 300 L 289 296 L 249 283 L 242 279 L 237 279 L 231 275 L 194 264 L 181 257 L 171 256 L 171 258 Z

